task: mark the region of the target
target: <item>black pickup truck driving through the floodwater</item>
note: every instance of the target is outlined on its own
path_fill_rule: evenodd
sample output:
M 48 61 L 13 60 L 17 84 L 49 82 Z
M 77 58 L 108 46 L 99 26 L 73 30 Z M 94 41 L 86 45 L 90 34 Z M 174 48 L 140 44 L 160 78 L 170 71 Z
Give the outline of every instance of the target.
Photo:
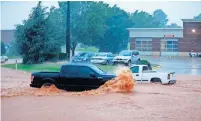
M 31 87 L 49 86 L 66 90 L 96 89 L 106 81 L 114 78 L 95 65 L 67 64 L 62 65 L 60 72 L 36 72 L 31 74 Z

